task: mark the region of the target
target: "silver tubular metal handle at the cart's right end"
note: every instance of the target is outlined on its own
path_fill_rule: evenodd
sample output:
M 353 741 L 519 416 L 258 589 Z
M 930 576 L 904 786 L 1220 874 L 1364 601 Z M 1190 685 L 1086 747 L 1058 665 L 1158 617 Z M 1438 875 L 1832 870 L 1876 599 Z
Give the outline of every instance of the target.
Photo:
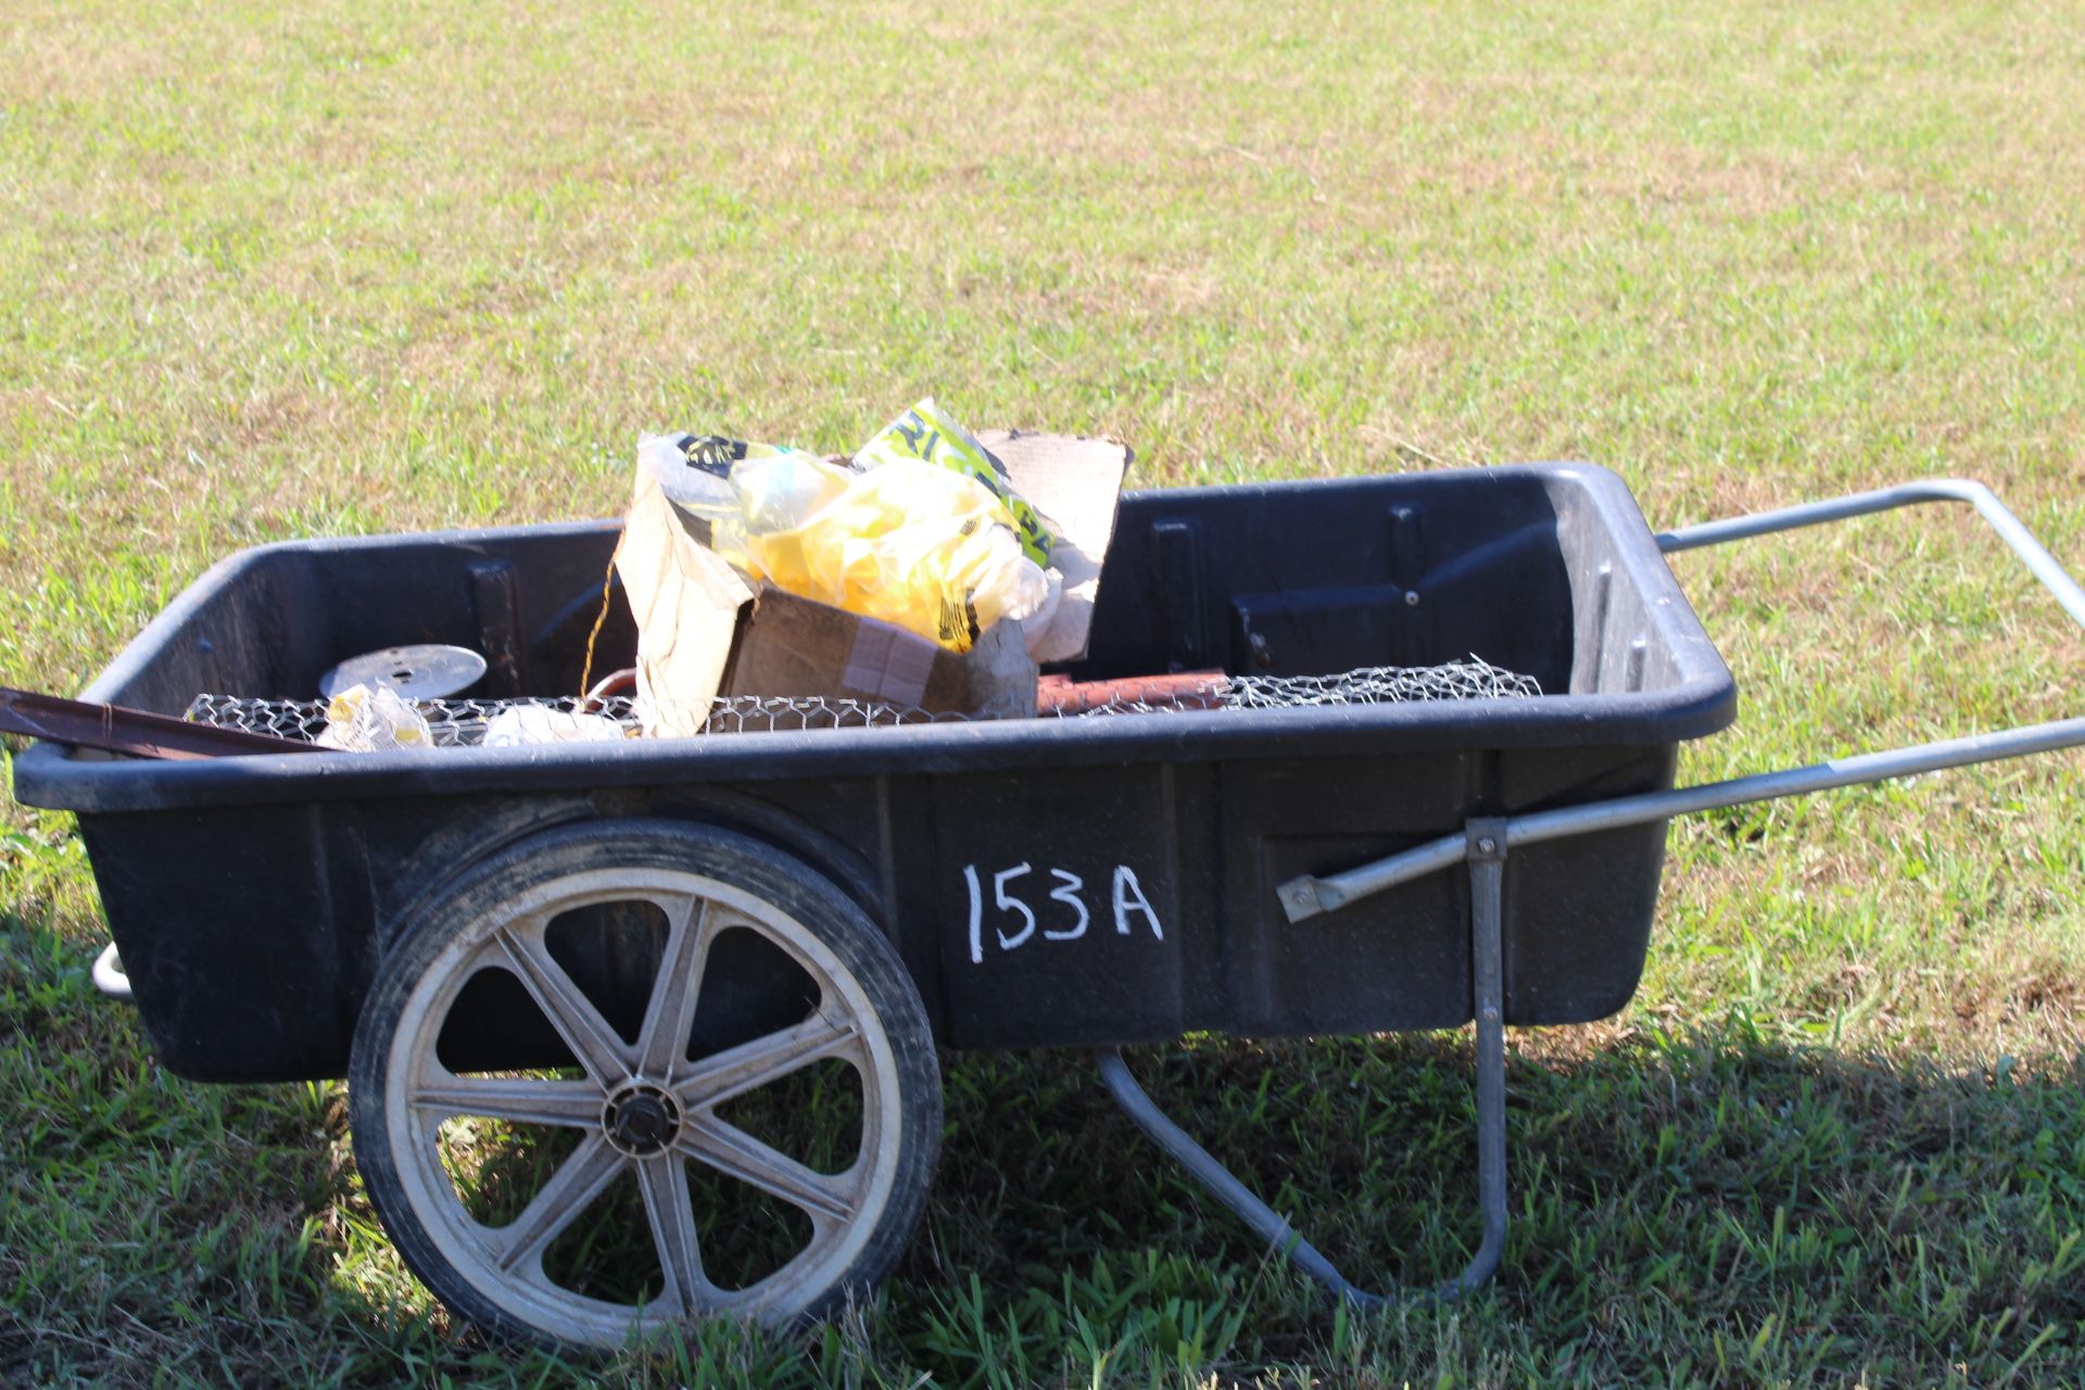
M 1772 536 L 1774 531 L 1822 525 L 1826 521 L 1868 517 L 1918 502 L 1968 502 L 1974 506 L 1977 513 L 1991 523 L 1991 529 L 1997 531 L 2000 540 L 2004 540 L 2012 552 L 2027 563 L 2027 569 L 2041 579 L 2043 588 L 2047 588 L 2064 613 L 2085 627 L 2085 588 L 2079 588 L 2077 579 L 2064 571 L 2056 556 L 2050 554 L 2025 525 L 2020 525 L 2020 519 L 2006 511 L 2006 504 L 1997 500 L 1997 494 L 1977 481 L 1943 477 L 1904 483 L 1899 488 L 1881 488 L 1876 492 L 1858 492 L 1829 502 L 1806 502 L 1801 506 L 1783 506 L 1779 511 L 1756 513 L 1749 517 L 1708 521 L 1678 531 L 1660 533 L 1658 548 L 1666 554 L 1674 554 L 1681 550 L 1697 550 L 1701 546 L 1720 546 L 1731 540 L 1747 540 L 1751 536 Z M 1995 763 L 2000 759 L 2018 759 L 2031 752 L 2052 752 L 2058 748 L 2079 746 L 2085 746 L 2085 719 L 2060 719 L 2056 723 L 2037 723 L 2000 734 L 1974 734 L 1970 738 L 1949 738 L 1935 744 L 1916 744 L 1887 752 L 1864 752 L 1858 756 L 1812 763 L 1810 767 L 1793 767 L 1779 773 L 1756 773 L 1751 777 L 1674 788 L 1670 792 L 1645 792 L 1641 796 L 1618 796 L 1614 800 L 1587 802 L 1583 806 L 1562 806 L 1557 811 L 1537 811 L 1532 815 L 1507 817 L 1505 846 L 1518 848 L 1524 844 L 1541 844 L 1545 840 L 1589 836 L 1601 829 L 1666 821 L 1674 815 L 1720 811 L 1726 806 L 1743 806 L 1783 796 L 1810 796 L 1812 792 L 1829 792 L 1862 781 L 1916 777 L 1920 773 L 1933 773 L 1947 767 Z M 1282 913 L 1289 921 L 1303 921 L 1426 873 L 1447 869 L 1449 865 L 1460 865 L 1464 859 L 1468 859 L 1468 838 L 1453 834 L 1403 850 L 1401 854 L 1391 854 L 1357 869 L 1347 869 L 1345 873 L 1332 873 L 1326 877 L 1295 877 L 1274 892 L 1280 898 Z

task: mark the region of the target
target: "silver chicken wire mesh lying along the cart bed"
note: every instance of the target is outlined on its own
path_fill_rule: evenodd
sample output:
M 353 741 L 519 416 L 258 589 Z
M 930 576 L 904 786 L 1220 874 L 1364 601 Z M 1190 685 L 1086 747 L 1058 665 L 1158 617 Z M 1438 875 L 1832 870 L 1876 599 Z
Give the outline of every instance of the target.
M 1526 700 L 1541 696 L 1532 675 L 1505 671 L 1470 656 L 1437 667 L 1366 667 L 1339 675 L 1222 675 L 1159 677 L 1076 686 L 1045 677 L 1040 719 L 1093 719 L 1111 715 L 1166 715 L 1184 711 L 1301 709 L 1328 704 L 1409 704 L 1420 700 Z M 1099 698 L 1093 698 L 1099 696 Z M 500 744 L 555 744 L 592 736 L 640 738 L 646 713 L 632 696 L 519 698 L 519 700 L 413 700 L 434 748 L 469 748 L 496 734 Z M 542 711 L 530 715 L 525 711 Z M 502 715 L 507 719 L 502 719 Z M 186 717 L 219 729 L 273 734 L 319 742 L 327 731 L 325 700 L 259 700 L 200 694 Z M 721 696 L 711 702 L 703 734 L 765 734 L 782 729 L 844 729 L 899 723 L 970 723 L 980 715 L 926 711 L 911 704 L 832 696 Z M 498 725 L 494 725 L 498 721 Z

